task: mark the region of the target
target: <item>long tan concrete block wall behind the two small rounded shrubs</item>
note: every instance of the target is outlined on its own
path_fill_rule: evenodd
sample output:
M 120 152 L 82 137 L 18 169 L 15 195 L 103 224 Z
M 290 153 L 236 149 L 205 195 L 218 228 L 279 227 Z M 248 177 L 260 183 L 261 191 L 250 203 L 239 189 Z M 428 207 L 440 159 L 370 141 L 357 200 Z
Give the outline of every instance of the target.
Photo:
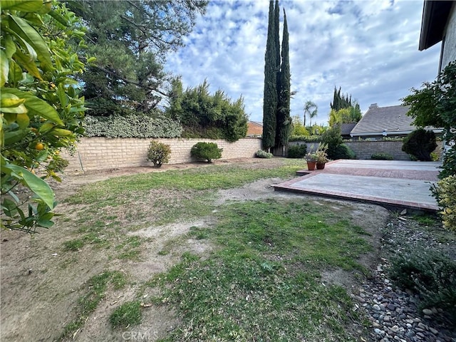
M 63 153 L 69 165 L 66 172 L 110 170 L 120 167 L 151 166 L 147 161 L 149 138 L 82 138 L 73 156 Z M 195 162 L 190 155 L 192 146 L 197 142 L 215 142 L 223 149 L 222 159 L 254 157 L 261 149 L 261 139 L 240 139 L 236 142 L 210 139 L 154 139 L 171 146 L 169 164 Z

